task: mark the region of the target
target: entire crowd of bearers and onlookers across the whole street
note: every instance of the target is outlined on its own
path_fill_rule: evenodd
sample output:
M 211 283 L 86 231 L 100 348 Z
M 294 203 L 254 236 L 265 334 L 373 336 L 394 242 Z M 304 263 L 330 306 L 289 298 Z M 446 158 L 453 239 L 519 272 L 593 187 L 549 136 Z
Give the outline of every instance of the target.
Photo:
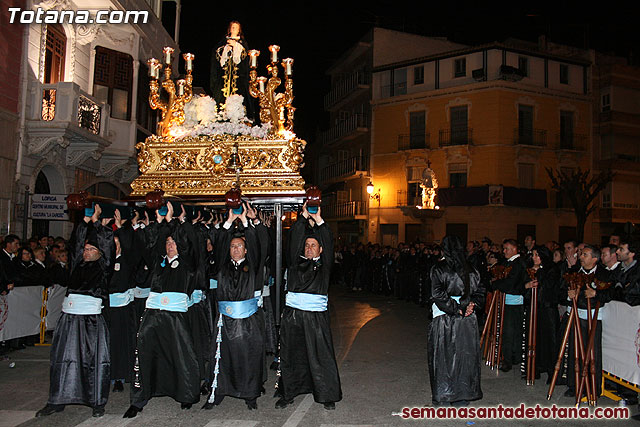
M 276 293 L 271 289 L 272 218 L 245 205 L 242 214 L 229 210 L 226 217 L 187 219 L 184 211 L 176 217 L 168 205 L 168 212 L 156 211 L 154 220 L 136 215 L 130 221 L 117 211 L 114 218 L 100 219 L 97 207 L 69 242 L 43 237 L 21 245 L 17 236 L 3 239 L 3 295 L 16 286 L 68 288 L 53 337 L 50 398 L 38 416 L 67 404 L 91 406 L 100 416 L 110 385 L 118 392 L 124 383 L 131 385 L 125 417 L 136 416 L 155 396 L 173 397 L 183 409 L 198 402 L 201 394 L 207 396 L 204 409 L 232 396 L 256 409 L 270 357 L 272 369 L 278 369 L 277 408 L 299 394 L 313 393 L 316 402 L 333 409 L 342 391 L 327 311 L 330 284 L 413 301 L 430 311 L 434 405 L 465 405 L 482 398 L 479 338 L 498 292 L 504 294 L 505 305 L 499 369 L 508 372 L 524 362 L 526 319 L 536 288 L 533 375 L 546 373 L 548 383 L 573 306 L 587 336 L 588 306 L 612 300 L 640 305 L 640 265 L 635 258 L 640 247 L 630 237 L 612 235 L 600 247 L 573 240 L 539 245 L 529 235 L 522 244 L 514 239 L 498 244 L 485 237 L 465 246 L 459 238 L 446 236 L 441 244 L 334 248 L 320 213 L 310 213 L 305 206 L 285 251 L 288 292 L 278 329 Z M 496 275 L 496 266 L 506 267 L 505 274 Z M 576 289 L 567 273 L 582 274 L 589 283 Z M 608 286 L 600 286 L 603 283 Z M 598 395 L 600 319 L 598 315 L 594 338 Z M 19 339 L 8 345 L 27 343 Z M 563 370 L 574 365 L 572 335 L 568 343 Z M 70 355 L 75 361 L 71 365 Z M 575 377 L 560 372 L 558 378 L 557 384 L 567 385 L 565 396 L 575 396 Z M 619 391 L 635 399 L 633 393 Z

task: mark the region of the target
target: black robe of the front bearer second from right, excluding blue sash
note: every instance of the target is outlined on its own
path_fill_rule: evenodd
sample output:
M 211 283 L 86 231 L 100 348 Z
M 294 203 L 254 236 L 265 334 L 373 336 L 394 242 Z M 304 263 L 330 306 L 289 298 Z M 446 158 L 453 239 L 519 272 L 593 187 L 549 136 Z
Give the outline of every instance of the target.
M 244 228 L 247 254 L 236 265 L 229 254 L 233 227 L 217 232 L 214 251 L 218 264 L 218 301 L 245 301 L 262 290 L 262 267 L 259 240 L 265 238 L 263 225 Z M 260 238 L 258 238 L 260 234 Z M 244 319 L 234 319 L 223 312 L 218 315 L 216 334 L 222 339 L 218 374 L 212 394 L 220 401 L 224 396 L 252 400 L 260 396 L 265 381 L 264 318 L 262 311 Z M 209 398 L 211 401 L 211 396 Z

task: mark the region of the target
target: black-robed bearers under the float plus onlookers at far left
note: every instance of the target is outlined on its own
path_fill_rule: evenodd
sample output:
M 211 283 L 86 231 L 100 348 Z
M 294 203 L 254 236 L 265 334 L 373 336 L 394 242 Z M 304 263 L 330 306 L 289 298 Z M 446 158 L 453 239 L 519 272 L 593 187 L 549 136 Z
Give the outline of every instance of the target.
M 131 387 L 125 418 L 157 396 L 172 397 L 185 410 L 201 395 L 203 409 L 226 396 L 257 409 L 274 356 L 276 408 L 312 393 L 325 409 L 335 409 L 342 390 L 328 313 L 333 235 L 319 209 L 304 205 L 290 230 L 279 329 L 270 291 L 271 216 L 247 203 L 191 219 L 184 208 L 174 214 L 171 203 L 151 212 L 153 219 L 149 212 L 131 220 L 118 210 L 113 218 L 101 213 L 99 204 L 87 212 L 48 266 L 36 258 L 44 270 L 33 279 L 30 268 L 20 267 L 19 238 L 3 239 L 3 296 L 21 285 L 67 288 L 53 332 L 49 399 L 37 417 L 69 404 L 89 406 L 100 417 L 109 393 L 123 391 L 125 383 Z M 59 267 L 64 282 L 57 279 Z

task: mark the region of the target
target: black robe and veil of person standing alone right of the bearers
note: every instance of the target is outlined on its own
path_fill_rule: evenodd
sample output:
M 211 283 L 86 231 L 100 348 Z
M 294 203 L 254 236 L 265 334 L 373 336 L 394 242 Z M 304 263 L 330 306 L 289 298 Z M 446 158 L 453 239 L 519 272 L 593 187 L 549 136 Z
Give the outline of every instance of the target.
M 462 296 L 464 283 L 460 275 L 445 261 L 431 269 L 431 298 L 445 314 L 431 321 L 429 332 L 429 377 L 431 399 L 434 402 L 456 402 L 482 399 L 480 387 L 480 335 L 475 310 L 484 305 L 485 289 L 480 274 L 472 268 L 469 276 L 469 302 L 474 312 L 464 317 L 465 301 L 456 302 L 452 296 Z

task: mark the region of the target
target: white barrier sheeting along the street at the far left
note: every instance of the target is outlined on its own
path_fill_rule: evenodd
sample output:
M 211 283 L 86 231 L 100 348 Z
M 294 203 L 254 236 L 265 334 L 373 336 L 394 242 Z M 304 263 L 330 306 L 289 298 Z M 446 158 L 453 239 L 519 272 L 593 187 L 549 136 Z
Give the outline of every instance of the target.
M 40 332 L 43 289 L 42 286 L 17 287 L 9 294 L 0 296 L 0 341 Z M 47 329 L 55 328 L 66 292 L 67 288 L 58 285 L 48 289 Z

